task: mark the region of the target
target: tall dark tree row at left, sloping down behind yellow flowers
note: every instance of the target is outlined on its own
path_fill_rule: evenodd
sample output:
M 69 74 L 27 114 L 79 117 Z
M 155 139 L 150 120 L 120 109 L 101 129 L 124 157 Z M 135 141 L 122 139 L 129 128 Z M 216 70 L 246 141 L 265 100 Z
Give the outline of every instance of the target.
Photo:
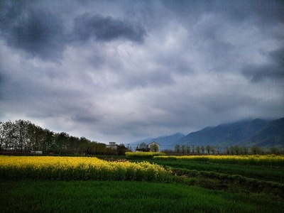
M 55 133 L 32 124 L 31 121 L 0 121 L 0 151 L 29 153 L 43 151 L 55 154 L 123 155 L 128 149 L 124 144 L 109 148 L 105 143 L 87 138 Z

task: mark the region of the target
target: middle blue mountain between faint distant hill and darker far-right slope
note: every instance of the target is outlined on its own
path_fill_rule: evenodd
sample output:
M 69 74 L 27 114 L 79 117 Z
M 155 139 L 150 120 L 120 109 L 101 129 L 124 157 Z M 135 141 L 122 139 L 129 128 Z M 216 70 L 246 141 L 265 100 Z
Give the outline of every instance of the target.
M 261 131 L 268 122 L 269 121 L 255 119 L 206 127 L 200 131 L 189 133 L 187 136 L 180 138 L 177 143 L 180 145 L 231 146 L 239 141 L 251 138 L 258 133 L 258 131 Z

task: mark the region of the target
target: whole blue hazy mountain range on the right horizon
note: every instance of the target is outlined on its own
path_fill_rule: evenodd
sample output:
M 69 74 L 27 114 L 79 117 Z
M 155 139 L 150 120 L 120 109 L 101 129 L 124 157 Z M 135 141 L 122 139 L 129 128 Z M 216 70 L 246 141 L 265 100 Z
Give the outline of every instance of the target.
M 206 128 L 187 134 L 175 133 L 170 136 L 147 138 L 131 143 L 139 146 L 140 143 L 155 141 L 160 144 L 160 150 L 173 150 L 175 145 L 187 146 L 258 146 L 269 148 L 272 146 L 284 147 L 284 118 L 277 120 L 253 119 L 238 121 Z

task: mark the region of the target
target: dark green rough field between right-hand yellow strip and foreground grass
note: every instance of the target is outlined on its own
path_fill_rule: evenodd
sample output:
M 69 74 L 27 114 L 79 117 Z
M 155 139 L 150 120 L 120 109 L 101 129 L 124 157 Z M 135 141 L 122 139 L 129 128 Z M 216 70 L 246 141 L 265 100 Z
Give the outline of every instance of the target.
M 265 195 L 268 199 L 284 202 L 283 168 L 181 160 L 149 161 L 170 168 L 176 182 L 244 195 Z

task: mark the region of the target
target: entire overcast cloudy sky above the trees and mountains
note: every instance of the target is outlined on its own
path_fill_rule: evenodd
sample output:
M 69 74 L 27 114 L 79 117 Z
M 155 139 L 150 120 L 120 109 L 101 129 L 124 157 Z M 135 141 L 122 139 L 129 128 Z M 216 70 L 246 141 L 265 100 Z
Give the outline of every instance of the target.
M 0 121 L 131 143 L 284 116 L 284 1 L 1 1 Z

